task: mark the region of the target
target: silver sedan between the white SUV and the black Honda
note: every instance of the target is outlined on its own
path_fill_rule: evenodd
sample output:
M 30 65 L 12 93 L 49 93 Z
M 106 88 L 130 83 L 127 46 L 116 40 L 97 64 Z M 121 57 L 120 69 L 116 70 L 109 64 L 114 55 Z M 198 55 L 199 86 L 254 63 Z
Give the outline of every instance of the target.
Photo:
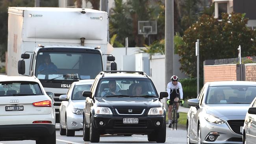
M 61 106 L 59 109 L 60 135 L 73 137 L 75 131 L 83 129 L 83 108 L 85 97 L 83 91 L 90 90 L 94 79 L 73 82 L 67 94 L 59 96 Z

